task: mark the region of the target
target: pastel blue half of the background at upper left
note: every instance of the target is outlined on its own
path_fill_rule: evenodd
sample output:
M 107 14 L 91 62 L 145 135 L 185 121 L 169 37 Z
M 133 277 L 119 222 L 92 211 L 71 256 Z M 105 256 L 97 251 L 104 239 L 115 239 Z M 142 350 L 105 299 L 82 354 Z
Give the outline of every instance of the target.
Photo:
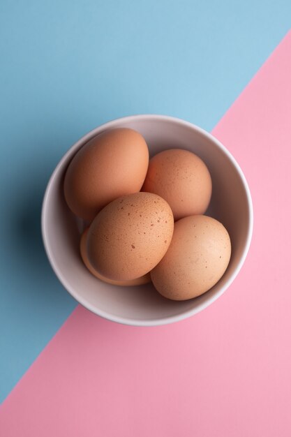
M 59 158 L 129 114 L 210 131 L 287 33 L 290 13 L 290 0 L 1 1 L 0 401 L 76 305 L 40 236 Z

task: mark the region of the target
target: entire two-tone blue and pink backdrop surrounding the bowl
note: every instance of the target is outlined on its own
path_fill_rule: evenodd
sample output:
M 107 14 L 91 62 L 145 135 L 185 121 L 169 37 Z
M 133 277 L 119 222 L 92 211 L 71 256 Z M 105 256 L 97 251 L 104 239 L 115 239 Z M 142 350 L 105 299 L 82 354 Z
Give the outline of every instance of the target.
M 291 435 L 290 34 L 278 45 L 290 12 L 287 0 L 1 2 L 0 436 Z M 77 306 L 40 237 L 61 156 L 137 113 L 208 131 L 222 117 L 213 133 L 255 213 L 225 295 L 156 328 Z

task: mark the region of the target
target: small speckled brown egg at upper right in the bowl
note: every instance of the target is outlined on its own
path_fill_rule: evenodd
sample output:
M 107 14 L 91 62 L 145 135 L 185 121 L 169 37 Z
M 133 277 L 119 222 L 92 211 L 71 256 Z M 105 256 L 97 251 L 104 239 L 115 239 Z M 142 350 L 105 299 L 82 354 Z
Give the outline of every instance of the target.
M 211 198 L 211 176 L 202 159 L 191 151 L 164 150 L 150 159 L 142 191 L 167 200 L 176 221 L 204 214 Z

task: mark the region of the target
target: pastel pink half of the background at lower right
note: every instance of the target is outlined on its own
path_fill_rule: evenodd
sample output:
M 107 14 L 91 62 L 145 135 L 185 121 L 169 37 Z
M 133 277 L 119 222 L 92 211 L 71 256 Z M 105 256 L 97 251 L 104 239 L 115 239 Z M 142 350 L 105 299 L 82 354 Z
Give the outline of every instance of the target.
M 77 307 L 1 406 L 1 436 L 290 437 L 290 78 L 288 34 L 214 129 L 255 212 L 225 295 L 154 328 Z

